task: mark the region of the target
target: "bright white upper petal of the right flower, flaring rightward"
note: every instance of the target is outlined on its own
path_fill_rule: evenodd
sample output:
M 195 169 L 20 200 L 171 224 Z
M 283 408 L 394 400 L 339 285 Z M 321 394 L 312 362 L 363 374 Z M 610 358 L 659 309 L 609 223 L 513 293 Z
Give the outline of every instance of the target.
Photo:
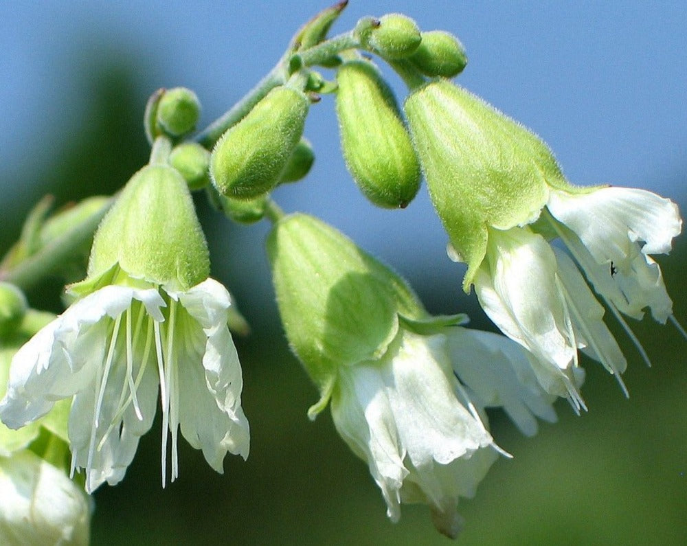
M 550 192 L 551 214 L 582 240 L 598 264 L 632 260 L 635 242 L 644 254 L 668 253 L 682 230 L 677 205 L 646 190 L 602 187 L 594 192 Z

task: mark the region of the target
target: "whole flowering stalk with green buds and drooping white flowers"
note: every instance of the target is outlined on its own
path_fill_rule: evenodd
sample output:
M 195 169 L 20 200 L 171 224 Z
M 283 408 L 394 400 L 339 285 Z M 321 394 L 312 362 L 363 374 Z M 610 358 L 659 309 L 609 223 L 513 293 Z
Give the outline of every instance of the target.
M 14 541 L 5 527 L 34 537 L 21 526 L 22 507 L 32 504 L 41 508 L 32 517 L 50 522 L 32 524 L 32 541 L 86 542 L 89 499 L 65 470 L 84 470 L 89 493 L 121 481 L 158 399 L 163 486 L 168 451 L 172 481 L 179 473 L 179 431 L 218 473 L 227 453 L 247 457 L 230 333 L 247 324 L 209 277 L 192 190 L 238 223 L 271 220 L 280 317 L 320 394 L 308 415 L 330 406 L 392 521 L 401 503 L 426 503 L 438 530 L 457 536 L 459 499 L 475 494 L 499 454 L 510 456 L 485 409 L 502 408 L 526 435 L 537 433 L 537 419 L 556 420 L 559 397 L 586 409 L 578 350 L 625 390 L 627 361 L 606 308 L 644 356 L 623 316 L 641 319 L 648 309 L 685 333 L 651 258 L 668 253 L 682 229 L 675 203 L 645 190 L 571 185 L 543 141 L 451 82 L 466 55 L 447 32 L 389 14 L 327 39 L 345 5 L 306 23 L 265 83 L 198 135 L 195 93 L 154 93 L 144 117 L 150 162 L 113 199 L 28 222 L 0 264 L 5 277 L 26 282 L 41 256 L 57 248 L 62 265 L 74 264 L 91 244 L 85 279 L 67 286 L 58 317 L 36 315 L 19 288 L 0 284 L 0 485 L 14 484 L 15 473 L 32 477 L 8 497 L 16 510 L 0 498 L 1 541 Z M 402 107 L 371 55 L 409 87 Z M 333 69 L 333 81 L 315 65 Z M 465 315 L 431 315 L 405 280 L 335 228 L 273 203 L 275 187 L 313 165 L 304 128 L 326 93 L 335 94 L 354 183 L 374 205 L 404 209 L 424 177 L 449 257 L 467 265 L 464 290 L 474 286 L 505 335 L 466 328 Z M 27 451 L 39 435 L 57 446 L 43 457 Z M 64 499 L 61 512 L 43 505 L 47 487 Z

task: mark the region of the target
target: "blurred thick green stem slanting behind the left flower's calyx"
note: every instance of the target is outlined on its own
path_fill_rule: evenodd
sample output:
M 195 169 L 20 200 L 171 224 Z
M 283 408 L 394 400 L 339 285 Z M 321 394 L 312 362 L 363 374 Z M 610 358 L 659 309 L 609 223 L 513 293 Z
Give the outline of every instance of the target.
M 0 271 L 0 280 L 11 282 L 26 291 L 41 282 L 66 258 L 73 255 L 89 238 L 93 237 L 100 220 L 111 207 L 114 198 L 110 199 L 97 212 L 82 223 L 52 240 L 34 255 L 22 260 L 9 271 Z

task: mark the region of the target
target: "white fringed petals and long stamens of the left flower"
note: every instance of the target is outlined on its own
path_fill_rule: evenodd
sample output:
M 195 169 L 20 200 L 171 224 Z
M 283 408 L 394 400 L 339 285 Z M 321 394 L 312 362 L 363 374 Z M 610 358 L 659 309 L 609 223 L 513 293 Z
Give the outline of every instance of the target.
M 89 492 L 124 477 L 153 423 L 158 385 L 163 486 L 168 430 L 172 480 L 179 427 L 220 473 L 227 451 L 248 455 L 241 369 L 227 328 L 229 293 L 211 279 L 183 292 L 138 284 L 104 286 L 40 330 L 12 359 L 0 402 L 0 418 L 16 429 L 73 397 L 71 468 L 85 468 Z

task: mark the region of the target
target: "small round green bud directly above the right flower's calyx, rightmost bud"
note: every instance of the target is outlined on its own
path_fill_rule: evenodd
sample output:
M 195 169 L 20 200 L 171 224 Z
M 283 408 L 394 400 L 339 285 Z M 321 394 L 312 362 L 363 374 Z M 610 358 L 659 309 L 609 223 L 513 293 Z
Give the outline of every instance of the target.
M 408 60 L 425 76 L 454 78 L 458 76 L 468 58 L 458 38 L 442 30 L 423 32 L 423 41 Z

